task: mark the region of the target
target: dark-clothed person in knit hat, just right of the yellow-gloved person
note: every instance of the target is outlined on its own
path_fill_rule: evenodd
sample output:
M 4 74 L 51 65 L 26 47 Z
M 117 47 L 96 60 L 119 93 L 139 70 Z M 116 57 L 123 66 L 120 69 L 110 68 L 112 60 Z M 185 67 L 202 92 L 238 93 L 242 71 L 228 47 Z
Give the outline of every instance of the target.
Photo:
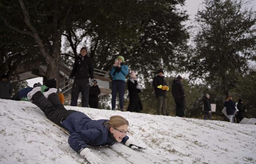
M 176 116 L 178 117 L 185 117 L 185 91 L 182 81 L 182 77 L 178 75 L 178 77 L 173 80 L 172 85 L 172 95 L 176 104 Z

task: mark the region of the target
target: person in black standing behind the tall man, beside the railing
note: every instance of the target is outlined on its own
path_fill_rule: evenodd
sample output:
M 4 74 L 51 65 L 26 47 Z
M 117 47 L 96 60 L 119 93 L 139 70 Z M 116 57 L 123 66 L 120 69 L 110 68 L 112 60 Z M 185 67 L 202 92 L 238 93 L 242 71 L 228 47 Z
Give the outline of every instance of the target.
M 93 86 L 90 87 L 89 92 L 89 105 L 90 108 L 98 109 L 99 106 L 99 94 L 101 94 L 101 90 L 99 89 L 99 86 L 97 85 L 97 81 L 93 81 Z

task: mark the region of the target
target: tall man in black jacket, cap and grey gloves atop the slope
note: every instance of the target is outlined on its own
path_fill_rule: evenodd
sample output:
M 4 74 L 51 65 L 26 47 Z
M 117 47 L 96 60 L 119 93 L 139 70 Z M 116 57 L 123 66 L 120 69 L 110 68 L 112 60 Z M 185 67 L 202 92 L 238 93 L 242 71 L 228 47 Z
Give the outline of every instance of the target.
M 88 107 L 90 90 L 89 78 L 91 78 L 91 81 L 93 81 L 93 72 L 93 63 L 87 55 L 87 49 L 86 47 L 82 47 L 80 50 L 80 54 L 75 59 L 72 72 L 69 76 L 69 80 L 75 76 L 75 80 L 71 90 L 70 106 L 77 106 L 78 96 L 81 92 L 82 107 Z

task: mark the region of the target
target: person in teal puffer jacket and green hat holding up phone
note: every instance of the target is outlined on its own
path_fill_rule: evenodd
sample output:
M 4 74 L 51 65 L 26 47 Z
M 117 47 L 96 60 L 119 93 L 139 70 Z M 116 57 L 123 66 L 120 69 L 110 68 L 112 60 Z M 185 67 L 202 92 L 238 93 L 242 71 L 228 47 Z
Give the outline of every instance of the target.
M 124 91 L 125 91 L 125 76 L 129 73 L 129 68 L 124 64 L 124 57 L 118 56 L 118 60 L 115 60 L 115 63 L 110 71 L 112 78 L 112 110 L 116 108 L 116 96 L 118 91 L 120 109 L 124 109 Z

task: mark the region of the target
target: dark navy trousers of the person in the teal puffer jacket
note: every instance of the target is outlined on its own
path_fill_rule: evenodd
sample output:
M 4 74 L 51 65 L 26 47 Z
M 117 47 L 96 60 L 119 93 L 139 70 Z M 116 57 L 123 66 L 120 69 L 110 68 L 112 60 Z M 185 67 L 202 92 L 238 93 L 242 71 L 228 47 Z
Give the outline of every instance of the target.
M 124 90 L 125 90 L 125 81 L 123 80 L 114 80 L 112 81 L 112 109 L 116 108 L 116 96 L 118 91 L 120 109 L 124 109 Z

